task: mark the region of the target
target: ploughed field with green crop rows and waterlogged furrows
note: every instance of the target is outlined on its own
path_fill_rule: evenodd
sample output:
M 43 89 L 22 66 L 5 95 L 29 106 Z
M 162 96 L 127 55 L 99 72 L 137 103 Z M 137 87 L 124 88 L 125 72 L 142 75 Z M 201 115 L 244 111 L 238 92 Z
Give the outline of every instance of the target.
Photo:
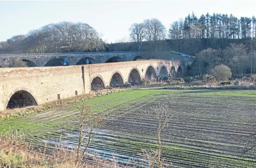
M 162 134 L 163 158 L 181 168 L 254 168 L 256 150 L 244 151 L 256 132 L 256 91 L 130 90 L 108 94 L 42 114 L 1 121 L 0 132 L 17 129 L 28 141 L 50 147 L 78 142 L 80 103 L 104 113 L 90 153 L 143 165 L 142 148 L 156 148 L 151 108 L 164 103 L 172 114 Z M 60 141 L 61 139 L 61 141 Z M 86 142 L 86 140 L 85 140 Z

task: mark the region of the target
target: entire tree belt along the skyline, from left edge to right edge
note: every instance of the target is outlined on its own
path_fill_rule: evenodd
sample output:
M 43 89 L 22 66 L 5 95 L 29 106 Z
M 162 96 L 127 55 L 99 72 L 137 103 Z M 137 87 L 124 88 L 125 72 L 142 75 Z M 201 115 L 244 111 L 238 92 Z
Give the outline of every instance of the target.
M 60 53 L 95 51 L 177 51 L 195 55 L 203 49 L 225 49 L 231 43 L 256 49 L 256 18 L 233 14 L 188 14 L 174 21 L 167 31 L 156 18 L 134 23 L 129 28 L 129 42 L 106 44 L 101 35 L 86 23 L 49 24 L 26 35 L 16 35 L 0 42 L 0 54 Z M 155 54 L 157 55 L 157 54 Z

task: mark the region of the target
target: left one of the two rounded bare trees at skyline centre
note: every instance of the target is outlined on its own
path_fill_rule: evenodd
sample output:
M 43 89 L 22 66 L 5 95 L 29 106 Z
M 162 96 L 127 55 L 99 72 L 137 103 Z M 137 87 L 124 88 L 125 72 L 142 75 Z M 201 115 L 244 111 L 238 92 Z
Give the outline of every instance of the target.
M 134 23 L 129 28 L 131 40 L 138 42 L 139 52 L 142 50 L 142 40 L 145 39 L 146 29 L 143 23 Z

